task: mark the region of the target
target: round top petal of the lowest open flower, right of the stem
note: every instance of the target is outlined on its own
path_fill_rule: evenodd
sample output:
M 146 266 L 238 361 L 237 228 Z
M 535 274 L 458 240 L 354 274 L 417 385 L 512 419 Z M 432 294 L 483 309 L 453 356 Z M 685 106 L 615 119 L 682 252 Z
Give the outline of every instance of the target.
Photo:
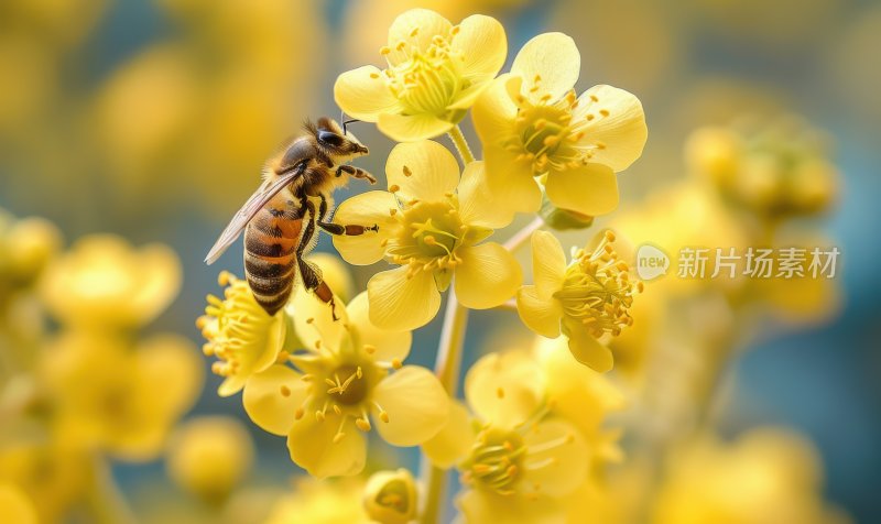
M 526 422 L 544 401 L 544 381 L 526 351 L 481 357 L 465 378 L 465 397 L 475 414 L 493 426 Z

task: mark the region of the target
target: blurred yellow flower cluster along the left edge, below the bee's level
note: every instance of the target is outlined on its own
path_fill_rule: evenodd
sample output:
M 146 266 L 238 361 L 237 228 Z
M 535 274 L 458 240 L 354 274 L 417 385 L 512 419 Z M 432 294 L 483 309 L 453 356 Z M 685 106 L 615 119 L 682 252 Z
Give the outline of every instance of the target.
M 94 234 L 63 251 L 51 222 L 0 211 L 0 520 L 59 522 L 107 459 L 162 455 L 203 365 L 180 335 L 138 332 L 178 292 L 170 248 Z

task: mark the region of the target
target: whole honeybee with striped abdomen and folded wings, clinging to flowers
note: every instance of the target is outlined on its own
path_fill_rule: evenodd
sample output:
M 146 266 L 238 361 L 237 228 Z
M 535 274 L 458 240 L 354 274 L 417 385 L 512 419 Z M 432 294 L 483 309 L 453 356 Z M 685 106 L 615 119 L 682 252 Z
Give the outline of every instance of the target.
M 296 284 L 330 306 L 336 320 L 334 293 L 322 280 L 318 268 L 303 259 L 318 240 L 316 227 L 330 234 L 363 234 L 372 226 L 342 226 L 326 221 L 336 187 L 348 181 L 342 175 L 377 179 L 368 172 L 346 164 L 368 154 L 368 149 L 329 118 L 306 121 L 305 134 L 294 139 L 271 157 L 263 170 L 263 183 L 236 212 L 220 233 L 205 262 L 214 263 L 244 230 L 244 275 L 257 303 L 270 315 L 284 307 Z

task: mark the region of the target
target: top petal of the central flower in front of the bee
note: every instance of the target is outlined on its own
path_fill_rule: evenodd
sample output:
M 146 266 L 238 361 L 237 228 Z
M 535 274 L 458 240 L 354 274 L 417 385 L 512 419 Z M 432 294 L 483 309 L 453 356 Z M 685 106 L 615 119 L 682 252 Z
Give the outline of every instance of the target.
M 385 177 L 405 201 L 442 201 L 456 190 L 459 164 L 448 149 L 431 140 L 398 144 L 385 162 Z

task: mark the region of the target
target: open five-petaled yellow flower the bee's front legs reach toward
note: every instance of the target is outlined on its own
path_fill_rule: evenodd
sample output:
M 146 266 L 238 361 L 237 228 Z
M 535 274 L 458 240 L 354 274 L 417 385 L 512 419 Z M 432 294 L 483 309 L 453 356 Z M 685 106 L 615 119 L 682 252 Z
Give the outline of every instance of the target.
M 437 314 L 440 294 L 455 274 L 466 307 L 483 309 L 510 298 L 522 280 L 520 265 L 504 248 L 483 242 L 511 212 L 494 208 L 482 184 L 483 163 L 459 168 L 436 142 L 396 145 L 389 154 L 389 193 L 357 195 L 337 210 L 340 223 L 377 223 L 379 232 L 335 237 L 334 245 L 352 264 L 380 259 L 401 268 L 374 275 L 368 284 L 370 319 L 385 329 L 414 329 Z

